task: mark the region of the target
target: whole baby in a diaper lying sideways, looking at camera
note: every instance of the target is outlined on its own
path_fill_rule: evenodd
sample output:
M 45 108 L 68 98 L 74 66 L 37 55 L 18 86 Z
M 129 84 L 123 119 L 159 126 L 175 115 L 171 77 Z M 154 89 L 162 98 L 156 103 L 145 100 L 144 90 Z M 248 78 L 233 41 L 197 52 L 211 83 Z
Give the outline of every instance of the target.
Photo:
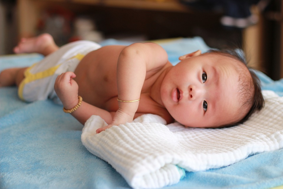
M 234 51 L 197 50 L 172 66 L 155 43 L 101 47 L 77 41 L 58 48 L 42 34 L 22 39 L 14 52 L 46 57 L 29 68 L 2 71 L 0 87 L 16 84 L 28 102 L 62 102 L 82 124 L 99 115 L 109 125 L 97 133 L 146 113 L 167 124 L 220 128 L 242 123 L 264 106 L 259 79 Z

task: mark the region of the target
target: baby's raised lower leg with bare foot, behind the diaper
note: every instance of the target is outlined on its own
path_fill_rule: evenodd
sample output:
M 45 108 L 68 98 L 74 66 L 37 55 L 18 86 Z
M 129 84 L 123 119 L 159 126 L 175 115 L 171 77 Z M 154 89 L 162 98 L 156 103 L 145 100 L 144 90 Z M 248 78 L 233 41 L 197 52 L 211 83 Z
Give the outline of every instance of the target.
M 41 34 L 34 38 L 22 38 L 14 48 L 15 53 L 40 53 L 44 56 L 58 50 L 52 36 L 48 33 Z

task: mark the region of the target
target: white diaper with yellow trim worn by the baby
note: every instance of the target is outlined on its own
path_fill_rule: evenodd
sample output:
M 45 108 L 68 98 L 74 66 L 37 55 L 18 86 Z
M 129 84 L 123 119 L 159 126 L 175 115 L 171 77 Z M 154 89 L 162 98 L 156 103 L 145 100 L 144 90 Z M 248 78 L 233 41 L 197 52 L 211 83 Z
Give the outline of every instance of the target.
M 25 71 L 25 78 L 19 85 L 19 97 L 27 102 L 50 98 L 61 103 L 54 91 L 57 76 L 67 71 L 75 71 L 86 54 L 100 47 L 97 43 L 84 40 L 62 46 Z

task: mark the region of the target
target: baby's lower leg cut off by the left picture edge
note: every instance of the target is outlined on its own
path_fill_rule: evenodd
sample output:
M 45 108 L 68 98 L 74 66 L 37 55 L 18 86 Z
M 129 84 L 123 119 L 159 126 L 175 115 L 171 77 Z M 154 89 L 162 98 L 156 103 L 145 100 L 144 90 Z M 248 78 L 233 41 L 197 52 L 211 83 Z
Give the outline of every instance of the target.
M 24 71 L 27 68 L 10 68 L 0 73 L 0 87 L 13 86 L 21 83 L 24 79 Z

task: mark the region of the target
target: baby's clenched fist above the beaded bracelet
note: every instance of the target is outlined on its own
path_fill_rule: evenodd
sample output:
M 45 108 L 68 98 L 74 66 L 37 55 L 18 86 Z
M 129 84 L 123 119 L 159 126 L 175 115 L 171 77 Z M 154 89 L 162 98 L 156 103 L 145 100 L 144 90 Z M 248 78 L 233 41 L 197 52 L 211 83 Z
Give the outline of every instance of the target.
M 73 79 L 75 77 L 73 72 L 68 71 L 58 76 L 54 84 L 55 92 L 67 110 L 78 104 L 79 87 Z

